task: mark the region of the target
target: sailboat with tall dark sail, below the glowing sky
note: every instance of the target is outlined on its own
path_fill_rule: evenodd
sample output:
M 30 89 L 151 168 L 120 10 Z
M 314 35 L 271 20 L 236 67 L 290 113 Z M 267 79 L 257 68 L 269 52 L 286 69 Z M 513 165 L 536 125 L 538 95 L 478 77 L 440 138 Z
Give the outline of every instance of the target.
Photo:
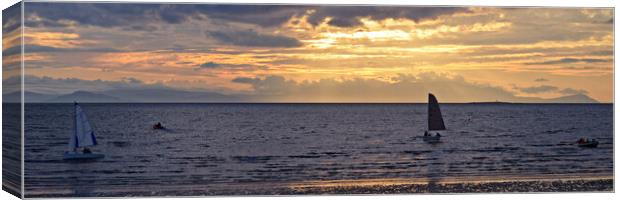
M 443 123 L 439 102 L 435 95 L 428 94 L 428 130 L 424 131 L 424 141 L 428 143 L 437 143 L 441 139 L 441 133 L 446 130 Z

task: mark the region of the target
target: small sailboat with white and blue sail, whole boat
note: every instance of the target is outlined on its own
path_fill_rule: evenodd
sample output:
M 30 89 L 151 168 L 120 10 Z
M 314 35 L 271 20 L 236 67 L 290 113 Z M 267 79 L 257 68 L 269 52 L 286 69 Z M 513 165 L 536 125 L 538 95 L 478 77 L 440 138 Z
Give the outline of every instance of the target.
M 73 135 L 69 140 L 69 151 L 65 152 L 64 160 L 93 160 L 105 157 L 103 154 L 92 153 L 88 147 L 96 146 L 95 132 L 88 123 L 86 114 L 77 102 L 73 103 L 74 123 Z M 81 151 L 80 151 L 81 149 Z

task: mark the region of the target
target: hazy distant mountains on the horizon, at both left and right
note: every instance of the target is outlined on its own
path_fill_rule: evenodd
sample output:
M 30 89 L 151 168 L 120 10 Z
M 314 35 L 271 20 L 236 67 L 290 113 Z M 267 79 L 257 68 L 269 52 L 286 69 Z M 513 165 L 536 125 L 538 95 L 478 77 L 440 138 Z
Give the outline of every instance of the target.
M 118 89 L 101 92 L 75 91 L 70 94 L 51 95 L 24 92 L 28 103 L 209 103 L 209 102 L 264 102 L 252 95 L 225 95 L 216 92 L 192 92 L 175 89 Z M 4 102 L 19 102 L 21 94 L 13 92 L 2 95 Z M 576 94 L 558 98 L 515 97 L 509 102 L 477 103 L 599 103 L 585 95 Z

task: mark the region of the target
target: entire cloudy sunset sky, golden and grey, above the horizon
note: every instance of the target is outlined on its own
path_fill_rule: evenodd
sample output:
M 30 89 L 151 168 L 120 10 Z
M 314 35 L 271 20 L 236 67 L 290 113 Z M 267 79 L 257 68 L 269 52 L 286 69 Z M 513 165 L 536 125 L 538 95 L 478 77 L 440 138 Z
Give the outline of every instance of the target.
M 613 9 L 28 2 L 24 15 L 26 90 L 38 93 L 613 101 Z M 10 60 L 18 46 L 5 41 Z

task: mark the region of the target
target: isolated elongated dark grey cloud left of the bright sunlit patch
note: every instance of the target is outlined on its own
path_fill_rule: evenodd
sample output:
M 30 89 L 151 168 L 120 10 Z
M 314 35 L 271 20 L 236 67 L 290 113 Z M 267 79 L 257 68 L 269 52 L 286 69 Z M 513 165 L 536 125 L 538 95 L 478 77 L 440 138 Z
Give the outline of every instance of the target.
M 207 35 L 216 40 L 236 46 L 248 47 L 299 47 L 301 42 L 295 38 L 267 35 L 254 30 L 247 31 L 211 31 Z

